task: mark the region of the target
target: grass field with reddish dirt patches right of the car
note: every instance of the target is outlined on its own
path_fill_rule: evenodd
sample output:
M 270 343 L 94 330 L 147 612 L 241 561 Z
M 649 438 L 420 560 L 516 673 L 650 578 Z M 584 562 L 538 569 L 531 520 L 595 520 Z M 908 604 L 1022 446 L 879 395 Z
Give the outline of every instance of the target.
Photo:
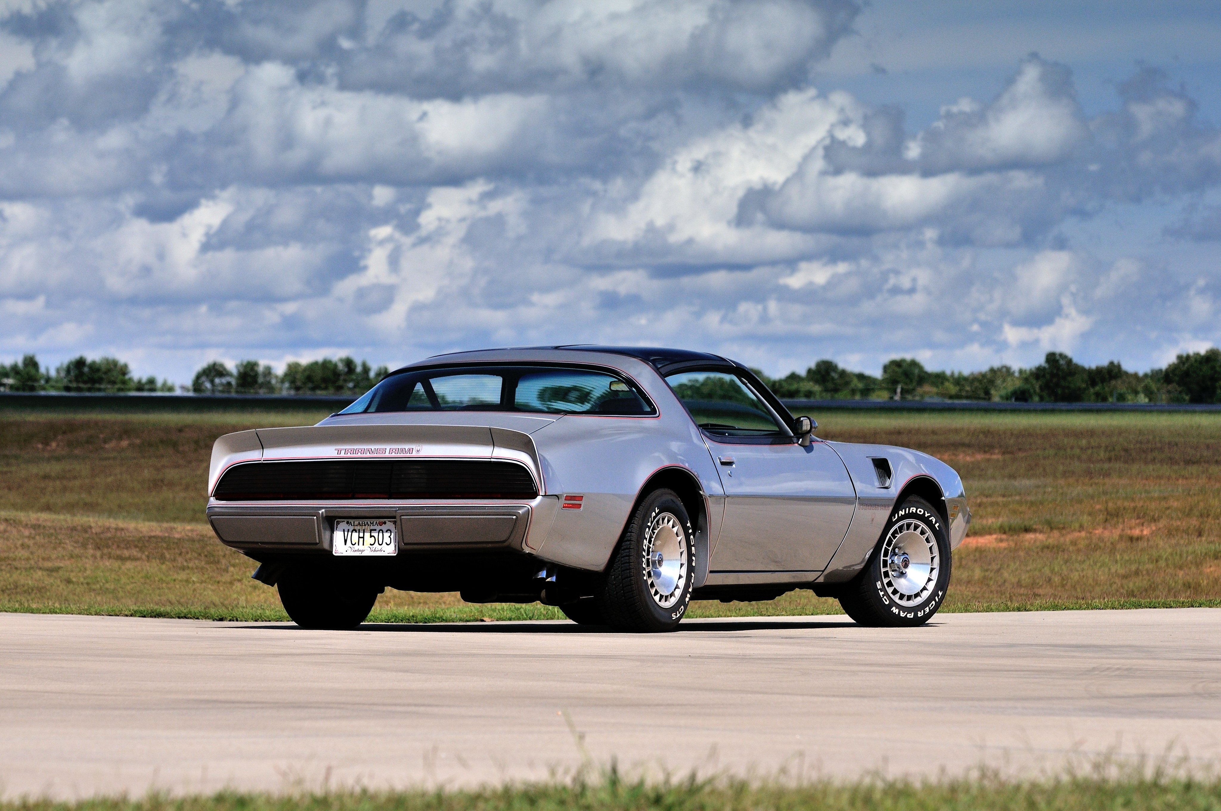
M 954 464 L 974 524 L 947 608 L 1221 598 L 1221 415 L 836 414 Z

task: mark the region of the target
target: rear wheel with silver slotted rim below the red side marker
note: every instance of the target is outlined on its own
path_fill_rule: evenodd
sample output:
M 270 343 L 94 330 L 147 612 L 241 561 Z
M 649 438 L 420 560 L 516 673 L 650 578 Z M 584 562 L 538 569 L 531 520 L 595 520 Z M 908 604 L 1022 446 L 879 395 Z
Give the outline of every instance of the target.
M 691 603 L 695 531 L 673 490 L 654 490 L 636 508 L 610 556 L 601 607 L 618 630 L 678 628 Z

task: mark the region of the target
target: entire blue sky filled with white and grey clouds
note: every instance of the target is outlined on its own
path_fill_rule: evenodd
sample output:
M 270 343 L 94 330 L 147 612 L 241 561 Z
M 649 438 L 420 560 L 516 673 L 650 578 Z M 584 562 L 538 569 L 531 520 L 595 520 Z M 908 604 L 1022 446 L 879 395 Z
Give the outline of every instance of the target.
M 0 0 L 0 360 L 1221 343 L 1215 2 Z

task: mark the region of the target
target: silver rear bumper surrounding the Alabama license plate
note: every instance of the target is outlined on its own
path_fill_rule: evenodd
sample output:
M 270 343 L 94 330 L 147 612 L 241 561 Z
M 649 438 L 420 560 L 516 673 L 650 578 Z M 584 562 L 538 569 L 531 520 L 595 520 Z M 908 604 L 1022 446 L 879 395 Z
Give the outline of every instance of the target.
M 222 544 L 243 552 L 330 553 L 336 519 L 383 518 L 398 525 L 399 555 L 465 548 L 531 552 L 531 528 L 558 509 L 554 496 L 524 502 L 234 503 L 208 506 Z M 541 546 L 541 542 L 538 544 Z

